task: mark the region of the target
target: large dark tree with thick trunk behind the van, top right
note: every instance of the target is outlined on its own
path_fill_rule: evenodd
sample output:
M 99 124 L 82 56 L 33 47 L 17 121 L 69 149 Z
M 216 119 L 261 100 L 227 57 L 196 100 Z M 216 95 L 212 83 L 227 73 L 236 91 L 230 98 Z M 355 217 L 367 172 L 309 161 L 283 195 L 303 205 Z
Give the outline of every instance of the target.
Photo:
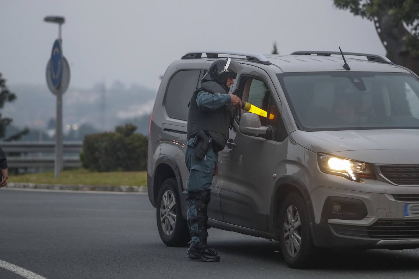
M 418 0 L 334 0 L 334 5 L 373 21 L 387 57 L 419 74 Z

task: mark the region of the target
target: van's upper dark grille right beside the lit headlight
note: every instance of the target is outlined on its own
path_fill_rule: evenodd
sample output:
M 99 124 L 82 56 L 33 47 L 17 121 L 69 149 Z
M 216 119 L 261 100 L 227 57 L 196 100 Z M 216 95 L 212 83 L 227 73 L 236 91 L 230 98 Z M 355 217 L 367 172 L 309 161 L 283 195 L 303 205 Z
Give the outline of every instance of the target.
M 385 178 L 399 185 L 419 185 L 419 166 L 380 166 Z

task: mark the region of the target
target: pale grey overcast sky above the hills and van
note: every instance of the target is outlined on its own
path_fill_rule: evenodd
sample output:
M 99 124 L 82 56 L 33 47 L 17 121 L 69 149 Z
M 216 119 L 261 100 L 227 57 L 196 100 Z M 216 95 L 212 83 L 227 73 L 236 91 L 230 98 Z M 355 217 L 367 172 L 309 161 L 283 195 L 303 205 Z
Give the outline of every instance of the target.
M 157 90 L 168 65 L 191 50 L 268 54 L 332 50 L 385 54 L 372 22 L 332 0 L 0 0 L 0 72 L 9 84 L 45 83 L 63 15 L 70 86 L 115 80 Z

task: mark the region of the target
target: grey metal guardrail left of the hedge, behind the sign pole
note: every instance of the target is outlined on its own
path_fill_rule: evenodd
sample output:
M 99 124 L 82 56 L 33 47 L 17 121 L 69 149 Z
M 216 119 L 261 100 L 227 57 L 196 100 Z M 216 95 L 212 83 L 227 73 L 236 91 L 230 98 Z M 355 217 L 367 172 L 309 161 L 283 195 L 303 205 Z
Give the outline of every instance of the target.
M 9 167 L 14 168 L 53 168 L 55 143 L 48 141 L 0 141 L 0 147 L 5 153 L 19 153 L 21 156 L 8 156 Z M 64 153 L 80 153 L 83 150 L 83 142 L 67 141 L 63 143 Z M 42 153 L 39 156 L 37 153 Z M 44 156 L 45 153 L 48 156 Z M 81 161 L 78 155 L 65 155 L 64 167 L 80 167 Z

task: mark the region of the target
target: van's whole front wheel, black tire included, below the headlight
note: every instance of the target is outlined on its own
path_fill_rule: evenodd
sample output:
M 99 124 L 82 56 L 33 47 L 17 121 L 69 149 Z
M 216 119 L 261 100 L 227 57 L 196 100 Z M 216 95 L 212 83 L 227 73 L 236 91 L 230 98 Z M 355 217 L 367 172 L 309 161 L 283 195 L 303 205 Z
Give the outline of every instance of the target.
M 290 213 L 290 219 L 288 213 Z M 288 266 L 295 269 L 311 267 L 315 246 L 310 230 L 308 210 L 304 198 L 299 193 L 291 192 L 285 197 L 279 210 L 278 225 L 279 246 Z

